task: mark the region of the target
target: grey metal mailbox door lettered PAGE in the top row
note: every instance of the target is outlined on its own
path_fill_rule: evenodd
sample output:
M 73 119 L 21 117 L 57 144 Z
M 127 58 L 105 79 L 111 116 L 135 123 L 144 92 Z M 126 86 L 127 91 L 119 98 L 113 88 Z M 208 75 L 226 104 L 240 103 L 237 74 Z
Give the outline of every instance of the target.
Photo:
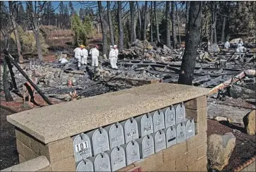
M 135 120 L 138 123 L 140 137 L 153 133 L 153 119 L 150 113 L 138 116 Z

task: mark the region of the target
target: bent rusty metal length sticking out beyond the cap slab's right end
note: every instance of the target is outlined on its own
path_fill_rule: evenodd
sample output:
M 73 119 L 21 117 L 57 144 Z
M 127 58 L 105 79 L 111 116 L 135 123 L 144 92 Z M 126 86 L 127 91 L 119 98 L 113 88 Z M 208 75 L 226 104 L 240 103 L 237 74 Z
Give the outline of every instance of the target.
M 243 79 L 245 76 L 256 76 L 256 70 L 244 70 L 243 72 L 236 75 L 234 78 L 226 80 L 220 85 L 217 85 L 216 87 L 212 88 L 212 90 L 209 90 L 209 94 L 217 93 L 219 90 L 224 89 L 235 82 L 238 82 L 239 80 Z

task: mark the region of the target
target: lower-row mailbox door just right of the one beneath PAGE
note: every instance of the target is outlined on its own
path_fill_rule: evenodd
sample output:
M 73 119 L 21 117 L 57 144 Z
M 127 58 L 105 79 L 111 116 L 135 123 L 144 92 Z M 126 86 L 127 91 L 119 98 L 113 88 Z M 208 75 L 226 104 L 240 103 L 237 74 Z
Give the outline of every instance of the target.
M 157 131 L 152 135 L 154 137 L 154 152 L 157 153 L 166 149 L 166 137 L 163 130 Z

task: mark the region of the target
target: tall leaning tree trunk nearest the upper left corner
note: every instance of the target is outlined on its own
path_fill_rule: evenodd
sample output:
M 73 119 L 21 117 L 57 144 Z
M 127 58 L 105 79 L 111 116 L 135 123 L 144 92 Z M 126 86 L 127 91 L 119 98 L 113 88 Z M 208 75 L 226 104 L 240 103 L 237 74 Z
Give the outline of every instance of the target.
M 16 23 L 16 9 L 13 9 L 13 1 L 8 1 L 9 2 L 9 13 L 10 13 L 10 18 L 11 18 L 11 23 L 13 25 L 13 30 L 14 30 L 14 35 L 16 39 L 16 46 L 18 50 L 18 62 L 23 63 L 23 55 L 21 51 L 21 44 L 20 44 L 20 35 L 18 34 L 18 29 L 17 29 L 17 23 Z

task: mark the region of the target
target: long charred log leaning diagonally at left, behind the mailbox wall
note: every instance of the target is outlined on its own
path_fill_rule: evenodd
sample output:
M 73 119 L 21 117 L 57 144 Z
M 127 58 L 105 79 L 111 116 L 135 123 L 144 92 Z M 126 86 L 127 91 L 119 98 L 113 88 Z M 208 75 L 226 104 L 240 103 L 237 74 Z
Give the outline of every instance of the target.
M 30 85 L 32 85 L 32 87 L 34 87 L 35 90 L 37 90 L 38 94 L 40 94 L 40 96 L 44 99 L 44 101 L 47 102 L 47 104 L 51 105 L 52 104 L 51 101 L 49 101 L 49 99 L 44 95 L 44 93 L 41 90 L 39 90 L 37 85 L 35 85 L 35 83 L 32 82 L 32 80 L 30 80 L 28 75 L 20 68 L 18 63 L 16 63 L 16 61 L 13 60 L 13 56 L 11 56 L 11 54 L 9 54 L 6 49 L 4 49 L 4 54 L 6 55 L 6 58 L 8 58 L 11 61 L 11 63 L 13 63 L 13 65 L 16 66 L 16 68 L 28 80 L 28 82 L 30 82 Z

